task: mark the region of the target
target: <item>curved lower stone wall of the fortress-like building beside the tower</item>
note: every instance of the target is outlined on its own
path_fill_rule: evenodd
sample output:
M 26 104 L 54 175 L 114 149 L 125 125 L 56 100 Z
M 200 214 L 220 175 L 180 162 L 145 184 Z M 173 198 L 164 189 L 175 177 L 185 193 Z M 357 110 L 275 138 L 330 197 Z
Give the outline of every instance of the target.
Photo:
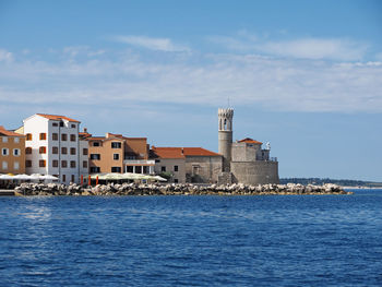
M 277 162 L 231 162 L 234 182 L 244 184 L 278 183 Z

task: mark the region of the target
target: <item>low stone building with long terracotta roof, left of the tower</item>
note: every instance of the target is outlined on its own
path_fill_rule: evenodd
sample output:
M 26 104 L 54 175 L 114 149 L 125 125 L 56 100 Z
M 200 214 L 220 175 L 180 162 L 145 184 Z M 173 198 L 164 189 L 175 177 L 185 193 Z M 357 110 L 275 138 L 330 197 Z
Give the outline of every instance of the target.
M 223 157 L 203 147 L 152 147 L 155 172 L 169 172 L 169 182 L 215 183 Z

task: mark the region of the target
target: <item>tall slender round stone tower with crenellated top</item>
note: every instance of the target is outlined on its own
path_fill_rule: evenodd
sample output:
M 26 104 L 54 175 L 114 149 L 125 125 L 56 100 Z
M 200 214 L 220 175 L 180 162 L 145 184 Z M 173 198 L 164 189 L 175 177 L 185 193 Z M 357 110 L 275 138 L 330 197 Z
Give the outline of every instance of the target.
M 230 171 L 232 146 L 232 108 L 219 108 L 218 116 L 218 153 L 223 155 L 223 172 Z

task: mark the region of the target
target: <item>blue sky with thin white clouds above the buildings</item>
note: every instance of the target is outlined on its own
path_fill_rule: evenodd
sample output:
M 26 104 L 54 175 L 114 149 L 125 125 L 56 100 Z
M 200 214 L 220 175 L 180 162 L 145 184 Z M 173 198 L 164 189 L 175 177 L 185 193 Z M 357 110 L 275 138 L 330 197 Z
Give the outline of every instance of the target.
M 0 0 L 0 124 L 217 151 L 271 142 L 280 177 L 382 181 L 381 1 Z

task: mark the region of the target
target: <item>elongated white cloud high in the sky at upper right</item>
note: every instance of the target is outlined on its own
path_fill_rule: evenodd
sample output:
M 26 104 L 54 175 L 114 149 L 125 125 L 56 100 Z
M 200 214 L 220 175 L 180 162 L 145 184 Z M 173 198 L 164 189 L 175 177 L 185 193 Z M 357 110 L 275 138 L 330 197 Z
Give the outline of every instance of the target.
M 212 36 L 208 40 L 230 50 L 312 60 L 357 61 L 362 60 L 368 50 L 368 45 L 365 43 L 343 38 L 308 37 L 274 41 L 246 31 L 239 32 L 234 37 Z

